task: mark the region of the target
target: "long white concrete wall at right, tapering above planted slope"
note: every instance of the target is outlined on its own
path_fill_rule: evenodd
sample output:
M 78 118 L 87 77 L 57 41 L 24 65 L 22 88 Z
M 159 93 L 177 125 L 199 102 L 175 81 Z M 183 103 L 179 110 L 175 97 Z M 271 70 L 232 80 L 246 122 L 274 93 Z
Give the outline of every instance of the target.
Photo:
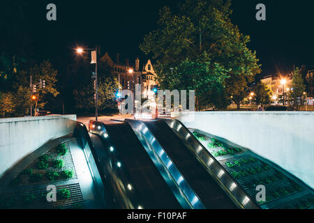
M 172 117 L 249 148 L 314 187 L 314 112 L 173 112 Z

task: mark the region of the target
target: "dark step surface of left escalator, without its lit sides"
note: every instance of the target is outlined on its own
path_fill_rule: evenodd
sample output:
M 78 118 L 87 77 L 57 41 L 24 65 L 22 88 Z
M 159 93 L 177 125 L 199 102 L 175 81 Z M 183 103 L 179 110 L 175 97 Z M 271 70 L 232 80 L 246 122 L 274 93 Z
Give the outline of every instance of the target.
M 144 208 L 181 208 L 128 123 L 104 124 L 114 151 Z M 127 183 L 127 182 L 126 182 Z

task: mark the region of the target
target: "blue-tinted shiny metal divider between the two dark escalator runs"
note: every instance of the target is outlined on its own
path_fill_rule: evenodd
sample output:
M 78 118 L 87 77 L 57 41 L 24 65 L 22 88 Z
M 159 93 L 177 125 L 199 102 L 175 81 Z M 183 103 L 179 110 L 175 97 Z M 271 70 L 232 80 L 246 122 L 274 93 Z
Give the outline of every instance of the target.
M 190 185 L 188 185 L 187 180 L 184 178 L 184 176 L 182 176 L 176 165 L 172 162 L 163 147 L 160 146 L 154 135 L 151 134 L 147 126 L 144 125 L 142 121 L 138 120 L 126 119 L 125 121 L 132 126 L 135 132 L 140 132 L 142 135 L 144 135 L 147 141 L 149 141 L 152 148 L 154 148 L 154 152 L 158 155 L 158 158 L 162 162 L 163 166 L 167 168 L 171 178 L 174 179 L 174 182 L 177 184 L 177 187 L 189 202 L 190 206 L 195 209 L 204 209 L 205 207 L 197 197 L 197 194 L 195 194 Z

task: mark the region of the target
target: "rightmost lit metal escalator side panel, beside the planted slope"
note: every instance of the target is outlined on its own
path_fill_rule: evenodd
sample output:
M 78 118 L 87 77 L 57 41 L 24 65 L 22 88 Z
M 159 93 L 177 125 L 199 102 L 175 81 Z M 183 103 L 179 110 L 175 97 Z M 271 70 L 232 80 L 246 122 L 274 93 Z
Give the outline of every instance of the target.
M 207 167 L 209 173 L 216 178 L 220 187 L 223 188 L 230 195 L 230 198 L 239 206 L 240 208 L 246 209 L 260 209 L 260 206 L 252 201 L 248 194 L 239 186 L 239 184 L 232 179 L 230 174 L 221 166 L 221 164 L 207 151 L 206 148 L 200 142 L 195 139 L 194 135 L 186 128 L 186 126 L 177 121 L 176 119 L 166 119 L 163 121 L 167 123 L 174 132 L 177 132 L 181 137 L 186 140 L 187 144 L 190 145 L 195 151 L 197 157 L 199 157 L 200 162 Z

